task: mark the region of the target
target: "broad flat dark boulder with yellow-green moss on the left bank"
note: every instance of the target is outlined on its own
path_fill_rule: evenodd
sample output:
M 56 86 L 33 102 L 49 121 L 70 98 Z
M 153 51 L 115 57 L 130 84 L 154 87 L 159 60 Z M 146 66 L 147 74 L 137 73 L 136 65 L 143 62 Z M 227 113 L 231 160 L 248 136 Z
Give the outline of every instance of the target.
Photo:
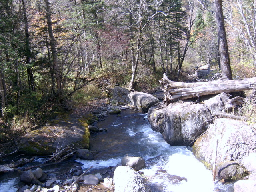
M 29 155 L 51 155 L 56 149 L 73 146 L 74 149 L 88 148 L 90 132 L 88 121 L 83 118 L 63 117 L 51 120 L 44 127 L 26 134 L 18 144 L 19 150 Z

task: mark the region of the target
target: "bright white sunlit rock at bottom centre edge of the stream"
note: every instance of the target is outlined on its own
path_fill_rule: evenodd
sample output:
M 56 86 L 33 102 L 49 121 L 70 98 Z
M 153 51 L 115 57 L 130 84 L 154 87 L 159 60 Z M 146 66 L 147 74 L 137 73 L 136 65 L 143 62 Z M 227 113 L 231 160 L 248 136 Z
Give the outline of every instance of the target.
M 114 172 L 115 192 L 151 192 L 142 176 L 129 166 L 119 166 Z

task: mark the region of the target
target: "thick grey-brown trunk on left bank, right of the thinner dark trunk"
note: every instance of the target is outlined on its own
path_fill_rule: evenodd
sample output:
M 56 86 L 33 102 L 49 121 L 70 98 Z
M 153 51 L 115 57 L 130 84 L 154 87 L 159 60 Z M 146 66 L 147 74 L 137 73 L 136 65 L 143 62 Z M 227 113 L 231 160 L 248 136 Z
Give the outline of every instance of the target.
M 57 57 L 57 49 L 56 49 L 56 40 L 54 38 L 53 30 L 52 30 L 52 18 L 51 18 L 51 11 L 50 11 L 50 3 L 49 0 L 44 0 L 44 3 L 46 5 L 46 20 L 47 20 L 47 27 L 48 27 L 48 33 L 50 37 L 50 48 L 52 52 L 52 61 L 53 61 L 53 73 L 56 78 L 56 84 L 57 84 L 57 91 L 56 95 L 60 96 L 62 95 L 62 82 L 61 82 L 61 75 L 60 75 L 60 67 Z

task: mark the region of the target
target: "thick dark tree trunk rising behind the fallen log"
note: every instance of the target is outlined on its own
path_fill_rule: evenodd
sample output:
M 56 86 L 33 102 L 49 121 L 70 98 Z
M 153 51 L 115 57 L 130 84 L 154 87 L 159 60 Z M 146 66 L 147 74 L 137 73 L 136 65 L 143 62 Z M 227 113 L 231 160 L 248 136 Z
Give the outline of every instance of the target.
M 222 0 L 214 0 L 216 23 L 218 29 L 219 38 L 219 52 L 220 52 L 220 69 L 221 72 L 227 76 L 229 80 L 232 80 L 232 72 L 230 67 L 230 58 L 228 54 L 228 42 L 226 37 L 226 30 L 224 25 L 224 16 L 222 11 Z

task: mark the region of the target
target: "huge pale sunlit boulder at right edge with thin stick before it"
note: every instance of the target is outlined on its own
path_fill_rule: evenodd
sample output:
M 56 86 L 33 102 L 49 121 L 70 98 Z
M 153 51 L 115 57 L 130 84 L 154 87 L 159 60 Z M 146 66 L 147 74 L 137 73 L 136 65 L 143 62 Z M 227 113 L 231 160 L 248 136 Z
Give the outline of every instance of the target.
M 194 155 L 208 169 L 212 169 L 217 140 L 217 163 L 232 160 L 243 165 L 244 158 L 256 152 L 256 135 L 246 122 L 227 118 L 216 119 L 193 146 Z

